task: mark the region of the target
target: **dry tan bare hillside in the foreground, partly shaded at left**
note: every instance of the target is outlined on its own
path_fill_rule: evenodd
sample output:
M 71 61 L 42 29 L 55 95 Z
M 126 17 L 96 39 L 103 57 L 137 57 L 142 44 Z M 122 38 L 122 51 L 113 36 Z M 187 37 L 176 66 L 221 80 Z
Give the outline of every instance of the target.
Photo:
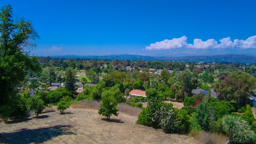
M 187 135 L 164 134 L 136 124 L 137 117 L 119 114 L 107 122 L 95 109 L 68 109 L 0 123 L 0 143 L 196 143 Z

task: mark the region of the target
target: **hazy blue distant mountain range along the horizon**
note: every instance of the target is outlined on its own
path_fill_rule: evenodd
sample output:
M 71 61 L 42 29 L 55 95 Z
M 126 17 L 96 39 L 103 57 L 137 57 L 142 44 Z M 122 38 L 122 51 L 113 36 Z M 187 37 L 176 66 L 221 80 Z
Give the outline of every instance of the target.
M 139 56 L 139 55 L 107 55 L 107 56 L 77 56 L 77 55 L 66 55 L 66 56 L 50 56 L 52 58 L 89 58 L 89 59 L 109 59 L 109 60 L 145 60 L 145 61 L 177 61 L 177 62 L 238 62 L 238 63 L 255 63 L 256 56 L 246 55 L 217 55 L 217 56 L 180 56 L 180 57 L 156 57 L 156 56 Z

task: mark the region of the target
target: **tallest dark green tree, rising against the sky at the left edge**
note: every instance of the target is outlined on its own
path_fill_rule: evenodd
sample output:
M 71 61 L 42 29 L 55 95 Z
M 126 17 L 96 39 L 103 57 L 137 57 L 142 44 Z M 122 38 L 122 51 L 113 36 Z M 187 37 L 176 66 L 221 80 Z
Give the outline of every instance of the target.
M 0 10 L 0 117 L 5 119 L 14 113 L 16 88 L 27 70 L 40 72 L 41 68 L 37 58 L 27 56 L 26 50 L 38 38 L 31 24 L 25 18 L 13 20 L 10 5 Z

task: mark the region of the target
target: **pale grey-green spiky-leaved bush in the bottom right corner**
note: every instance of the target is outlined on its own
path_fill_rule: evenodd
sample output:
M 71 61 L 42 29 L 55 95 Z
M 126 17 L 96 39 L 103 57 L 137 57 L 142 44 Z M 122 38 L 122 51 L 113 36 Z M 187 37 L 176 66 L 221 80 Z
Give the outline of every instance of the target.
M 223 130 L 229 136 L 227 143 L 253 143 L 256 141 L 256 135 L 251 130 L 246 120 L 234 115 L 223 117 Z

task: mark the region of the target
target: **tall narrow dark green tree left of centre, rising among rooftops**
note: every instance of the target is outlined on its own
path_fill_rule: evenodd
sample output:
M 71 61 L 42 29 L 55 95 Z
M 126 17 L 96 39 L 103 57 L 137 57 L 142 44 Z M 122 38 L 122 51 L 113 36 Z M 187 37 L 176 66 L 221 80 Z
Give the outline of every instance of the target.
M 65 88 L 70 91 L 75 91 L 75 71 L 71 67 L 65 70 Z

